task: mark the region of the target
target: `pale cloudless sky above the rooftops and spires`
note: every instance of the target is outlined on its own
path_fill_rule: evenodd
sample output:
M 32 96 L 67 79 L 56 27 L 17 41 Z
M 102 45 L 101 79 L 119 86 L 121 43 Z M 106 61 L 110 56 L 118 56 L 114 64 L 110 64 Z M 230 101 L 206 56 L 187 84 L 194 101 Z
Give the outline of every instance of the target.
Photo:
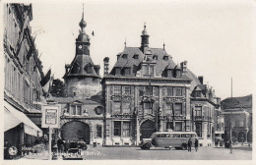
M 51 68 L 62 79 L 65 64 L 75 57 L 83 3 L 86 32 L 91 36 L 91 57 L 100 65 L 128 47 L 141 45 L 144 23 L 150 47 L 161 48 L 175 63 L 188 61 L 196 76 L 213 86 L 222 99 L 252 93 L 252 7 L 250 1 L 36 1 L 32 3 L 32 35 L 43 72 Z M 95 36 L 92 32 L 95 32 Z

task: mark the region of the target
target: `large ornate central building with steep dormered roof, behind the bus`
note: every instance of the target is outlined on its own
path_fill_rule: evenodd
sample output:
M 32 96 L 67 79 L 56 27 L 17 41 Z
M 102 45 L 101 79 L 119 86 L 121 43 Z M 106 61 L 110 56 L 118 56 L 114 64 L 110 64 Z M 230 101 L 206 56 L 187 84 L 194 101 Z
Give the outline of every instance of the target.
M 138 145 L 142 138 L 150 138 L 156 131 L 189 132 L 197 129 L 202 145 L 207 145 L 208 138 L 205 137 L 210 135 L 212 141 L 212 135 L 215 135 L 212 128 L 216 102 L 208 98 L 191 99 L 192 91 L 203 84 L 188 70 L 186 61 L 173 62 L 164 44 L 162 48 L 149 47 L 149 37 L 145 25 L 141 46 L 125 45 L 123 52 L 117 54 L 110 72 L 109 58 L 103 60 L 103 143 Z M 193 116 L 192 111 L 196 112 L 199 106 L 211 110 L 209 115 L 212 116 L 206 117 L 206 124 Z M 207 114 L 201 115 L 205 118 Z

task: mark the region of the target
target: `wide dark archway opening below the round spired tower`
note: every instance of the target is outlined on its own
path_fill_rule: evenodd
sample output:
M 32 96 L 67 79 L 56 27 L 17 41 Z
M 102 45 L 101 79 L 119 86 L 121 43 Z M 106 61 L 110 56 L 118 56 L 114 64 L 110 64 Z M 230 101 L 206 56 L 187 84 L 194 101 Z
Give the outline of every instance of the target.
M 61 127 L 61 135 L 65 140 L 84 140 L 90 143 L 90 126 L 83 122 L 67 122 Z

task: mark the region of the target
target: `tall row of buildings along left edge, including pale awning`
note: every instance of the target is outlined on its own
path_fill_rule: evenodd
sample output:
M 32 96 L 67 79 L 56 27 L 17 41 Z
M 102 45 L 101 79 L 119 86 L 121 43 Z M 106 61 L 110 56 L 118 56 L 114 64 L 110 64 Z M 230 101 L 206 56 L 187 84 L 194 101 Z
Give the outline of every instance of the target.
M 25 114 L 40 111 L 43 73 L 30 27 L 32 5 L 4 4 L 3 19 L 4 140 L 21 151 L 41 134 Z

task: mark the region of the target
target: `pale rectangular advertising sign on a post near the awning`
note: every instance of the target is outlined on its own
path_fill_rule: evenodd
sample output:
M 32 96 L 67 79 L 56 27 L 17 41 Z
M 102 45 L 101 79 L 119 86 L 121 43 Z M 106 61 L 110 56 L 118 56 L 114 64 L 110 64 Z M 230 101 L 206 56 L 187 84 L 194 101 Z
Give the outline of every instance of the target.
M 59 128 L 60 105 L 47 104 L 41 107 L 41 127 Z

